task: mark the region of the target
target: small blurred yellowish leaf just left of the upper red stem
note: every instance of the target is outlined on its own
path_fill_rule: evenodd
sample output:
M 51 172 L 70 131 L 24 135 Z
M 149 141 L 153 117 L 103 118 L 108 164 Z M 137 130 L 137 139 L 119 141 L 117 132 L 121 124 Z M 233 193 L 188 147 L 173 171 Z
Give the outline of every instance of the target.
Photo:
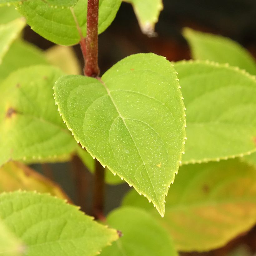
M 69 75 L 80 75 L 81 66 L 72 47 L 55 45 L 46 52 L 47 60 Z

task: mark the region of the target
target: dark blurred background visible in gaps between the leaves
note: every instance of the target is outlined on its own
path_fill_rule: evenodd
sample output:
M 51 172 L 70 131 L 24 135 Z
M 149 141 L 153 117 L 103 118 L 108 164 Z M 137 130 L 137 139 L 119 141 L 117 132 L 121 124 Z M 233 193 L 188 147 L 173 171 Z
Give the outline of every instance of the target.
M 163 3 L 164 10 L 155 27 L 158 37 L 155 38 L 143 35 L 132 6 L 128 3 L 121 4 L 112 25 L 99 36 L 101 74 L 122 58 L 139 52 L 154 52 L 170 61 L 190 59 L 188 45 L 181 35 L 183 27 L 230 37 L 256 56 L 256 0 L 164 0 Z M 29 27 L 25 29 L 25 39 L 42 49 L 53 45 Z M 74 49 L 83 66 L 80 47 L 77 45 Z M 78 159 L 74 159 L 72 163 L 33 167 L 59 183 L 75 204 L 81 205 L 86 213 L 91 214 L 93 176 Z M 126 184 L 107 185 L 106 214 L 120 204 L 128 189 Z M 237 254 L 234 254 L 234 250 L 238 250 Z M 242 234 L 224 248 L 205 254 L 182 255 L 243 256 L 255 253 L 256 228 L 248 234 Z

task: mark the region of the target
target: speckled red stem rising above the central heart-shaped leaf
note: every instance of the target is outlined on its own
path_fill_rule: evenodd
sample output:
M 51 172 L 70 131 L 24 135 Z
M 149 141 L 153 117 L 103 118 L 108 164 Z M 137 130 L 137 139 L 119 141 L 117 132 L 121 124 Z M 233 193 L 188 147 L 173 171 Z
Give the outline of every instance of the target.
M 100 74 L 100 69 L 98 66 L 98 19 L 99 0 L 88 0 L 86 54 L 84 67 L 85 76 L 96 77 Z

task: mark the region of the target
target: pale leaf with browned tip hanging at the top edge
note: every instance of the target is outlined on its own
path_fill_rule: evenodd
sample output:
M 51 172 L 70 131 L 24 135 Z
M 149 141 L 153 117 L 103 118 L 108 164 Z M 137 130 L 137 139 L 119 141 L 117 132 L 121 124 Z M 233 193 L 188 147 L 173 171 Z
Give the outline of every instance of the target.
M 158 17 L 163 9 L 162 0 L 123 0 L 131 3 L 134 12 L 137 16 L 140 24 L 141 31 L 150 36 L 154 37 L 155 24 L 158 22 Z

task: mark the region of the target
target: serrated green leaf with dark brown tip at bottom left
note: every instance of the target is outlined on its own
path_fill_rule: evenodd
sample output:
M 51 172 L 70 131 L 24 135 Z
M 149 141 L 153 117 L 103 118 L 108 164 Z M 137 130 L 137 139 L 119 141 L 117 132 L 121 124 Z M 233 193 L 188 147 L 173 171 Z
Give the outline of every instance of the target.
M 118 239 L 116 230 L 47 194 L 1 194 L 0 217 L 25 244 L 27 256 L 91 256 Z

